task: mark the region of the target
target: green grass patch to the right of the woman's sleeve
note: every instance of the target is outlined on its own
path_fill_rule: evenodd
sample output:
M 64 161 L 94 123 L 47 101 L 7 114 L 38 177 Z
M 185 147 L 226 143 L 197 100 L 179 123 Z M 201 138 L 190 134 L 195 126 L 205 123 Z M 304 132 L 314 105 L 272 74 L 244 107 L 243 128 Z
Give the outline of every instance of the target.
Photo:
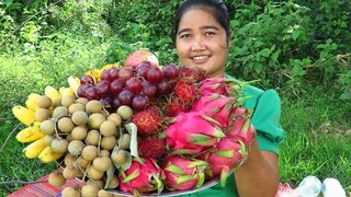
M 295 101 L 283 97 L 286 138 L 281 146 L 281 179 L 297 186 L 307 175 L 335 177 L 350 192 L 351 108 L 325 92 L 309 94 Z

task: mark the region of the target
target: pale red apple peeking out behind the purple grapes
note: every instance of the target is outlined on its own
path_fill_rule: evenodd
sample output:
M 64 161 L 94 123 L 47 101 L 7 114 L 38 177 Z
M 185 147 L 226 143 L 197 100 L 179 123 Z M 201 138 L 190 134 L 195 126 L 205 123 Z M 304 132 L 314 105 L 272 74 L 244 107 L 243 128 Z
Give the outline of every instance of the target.
M 158 58 L 155 54 L 148 51 L 148 50 L 135 50 L 132 54 L 127 56 L 127 58 L 124 61 L 124 67 L 131 67 L 131 66 L 137 66 L 141 61 L 150 61 L 151 65 L 158 67 Z

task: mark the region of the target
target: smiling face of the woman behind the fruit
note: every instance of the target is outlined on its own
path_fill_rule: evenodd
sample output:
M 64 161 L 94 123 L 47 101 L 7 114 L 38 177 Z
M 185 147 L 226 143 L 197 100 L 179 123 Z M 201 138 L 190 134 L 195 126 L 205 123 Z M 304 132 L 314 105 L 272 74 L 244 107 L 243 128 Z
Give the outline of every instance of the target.
M 229 38 L 208 9 L 186 11 L 176 37 L 178 56 L 183 66 L 201 67 L 210 77 L 224 77 Z

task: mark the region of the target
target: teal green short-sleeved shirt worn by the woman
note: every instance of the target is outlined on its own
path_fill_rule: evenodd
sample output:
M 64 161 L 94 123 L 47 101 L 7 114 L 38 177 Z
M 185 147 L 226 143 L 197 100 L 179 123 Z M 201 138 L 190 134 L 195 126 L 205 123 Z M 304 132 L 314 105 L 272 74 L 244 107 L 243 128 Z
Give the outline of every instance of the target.
M 227 76 L 227 78 L 231 78 Z M 257 130 L 257 141 L 260 150 L 279 153 L 279 143 L 284 138 L 284 130 L 280 124 L 281 100 L 274 90 L 263 91 L 252 85 L 247 85 L 242 96 L 250 96 L 246 100 L 244 106 L 253 109 L 251 123 Z M 222 187 L 217 184 L 211 188 L 182 195 L 188 197 L 235 197 L 238 192 L 234 175 L 227 178 L 227 184 Z

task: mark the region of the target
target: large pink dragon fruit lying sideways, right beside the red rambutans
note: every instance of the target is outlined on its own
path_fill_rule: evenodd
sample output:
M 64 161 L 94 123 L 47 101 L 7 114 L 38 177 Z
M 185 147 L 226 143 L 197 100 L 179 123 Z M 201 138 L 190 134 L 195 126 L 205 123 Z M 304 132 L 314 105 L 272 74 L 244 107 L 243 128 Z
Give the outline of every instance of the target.
M 225 135 L 201 112 L 180 113 L 165 131 L 167 148 L 174 154 L 196 154 L 213 147 Z

